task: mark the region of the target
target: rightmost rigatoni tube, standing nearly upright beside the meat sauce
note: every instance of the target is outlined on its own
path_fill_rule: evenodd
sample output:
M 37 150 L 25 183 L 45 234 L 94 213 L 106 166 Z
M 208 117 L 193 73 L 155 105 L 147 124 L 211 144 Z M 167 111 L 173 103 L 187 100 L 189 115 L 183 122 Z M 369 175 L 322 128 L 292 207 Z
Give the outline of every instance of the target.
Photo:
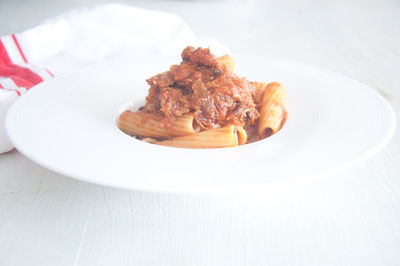
M 267 85 L 261 98 L 258 136 L 268 137 L 276 133 L 286 119 L 286 88 L 278 82 Z

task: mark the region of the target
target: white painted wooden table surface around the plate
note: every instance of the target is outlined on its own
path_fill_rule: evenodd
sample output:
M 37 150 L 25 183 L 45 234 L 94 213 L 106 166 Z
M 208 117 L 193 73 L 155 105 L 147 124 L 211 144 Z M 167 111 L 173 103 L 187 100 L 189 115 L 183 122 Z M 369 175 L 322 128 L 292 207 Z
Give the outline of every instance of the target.
M 1 1 L 0 35 L 105 2 Z M 235 52 L 340 72 L 400 117 L 399 1 L 120 3 L 175 12 Z M 73 180 L 12 151 L 0 155 L 0 265 L 400 265 L 399 162 L 397 130 L 377 156 L 330 178 L 171 195 Z

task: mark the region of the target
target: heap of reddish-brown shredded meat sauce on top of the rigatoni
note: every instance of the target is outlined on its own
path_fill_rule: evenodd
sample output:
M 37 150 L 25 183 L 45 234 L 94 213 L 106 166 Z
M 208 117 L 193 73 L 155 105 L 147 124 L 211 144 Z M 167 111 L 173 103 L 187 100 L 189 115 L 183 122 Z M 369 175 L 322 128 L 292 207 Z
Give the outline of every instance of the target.
M 147 80 L 150 89 L 141 110 L 162 114 L 165 125 L 189 112 L 203 129 L 254 124 L 259 113 L 252 82 L 228 71 L 208 48 L 188 46 L 182 60 Z

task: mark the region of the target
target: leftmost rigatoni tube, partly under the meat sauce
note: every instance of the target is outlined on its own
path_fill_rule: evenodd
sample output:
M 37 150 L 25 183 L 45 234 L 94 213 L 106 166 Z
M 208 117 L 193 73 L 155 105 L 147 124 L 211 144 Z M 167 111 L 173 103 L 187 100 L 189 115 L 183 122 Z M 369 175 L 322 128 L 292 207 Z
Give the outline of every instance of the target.
M 162 117 L 145 112 L 125 111 L 118 118 L 118 127 L 132 136 L 169 138 L 193 134 L 193 114 L 185 114 L 172 122 L 171 126 L 160 127 Z

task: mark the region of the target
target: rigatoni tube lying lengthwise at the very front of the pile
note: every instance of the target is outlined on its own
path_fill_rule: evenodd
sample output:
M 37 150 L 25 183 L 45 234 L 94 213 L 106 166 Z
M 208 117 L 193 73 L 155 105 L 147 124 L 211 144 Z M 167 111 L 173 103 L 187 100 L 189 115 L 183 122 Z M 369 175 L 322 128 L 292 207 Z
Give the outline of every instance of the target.
M 224 148 L 245 144 L 246 138 L 246 131 L 243 128 L 231 125 L 160 141 L 156 144 L 178 148 Z

